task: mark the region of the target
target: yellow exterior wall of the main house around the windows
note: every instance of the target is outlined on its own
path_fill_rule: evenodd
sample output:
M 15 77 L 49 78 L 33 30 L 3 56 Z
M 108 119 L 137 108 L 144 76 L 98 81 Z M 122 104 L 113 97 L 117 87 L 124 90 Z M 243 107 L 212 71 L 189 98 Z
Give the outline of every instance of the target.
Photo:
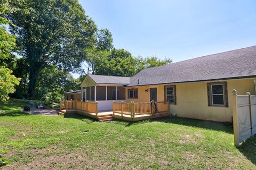
M 222 80 L 225 81 L 225 80 Z M 221 81 L 221 82 L 222 82 Z M 232 103 L 231 95 L 232 90 L 236 89 L 238 95 L 245 95 L 249 91 L 252 95 L 255 94 L 255 85 L 253 79 L 239 79 L 239 80 L 226 80 L 228 88 L 228 107 L 208 106 L 207 98 L 207 83 L 208 82 L 194 82 L 194 83 L 177 83 L 176 96 L 177 104 L 170 104 L 170 112 L 177 114 L 179 117 L 197 118 L 201 120 L 213 120 L 221 122 L 231 122 L 232 117 Z M 210 82 L 210 81 L 209 81 Z M 211 81 L 217 82 L 217 81 Z M 164 86 L 167 84 L 161 84 L 157 86 L 139 86 L 138 99 L 127 98 L 126 88 L 126 101 L 134 102 L 149 102 L 149 90 L 150 87 L 157 87 L 158 101 L 164 101 Z M 171 85 L 171 84 L 170 84 Z M 172 84 L 173 85 L 173 84 Z

